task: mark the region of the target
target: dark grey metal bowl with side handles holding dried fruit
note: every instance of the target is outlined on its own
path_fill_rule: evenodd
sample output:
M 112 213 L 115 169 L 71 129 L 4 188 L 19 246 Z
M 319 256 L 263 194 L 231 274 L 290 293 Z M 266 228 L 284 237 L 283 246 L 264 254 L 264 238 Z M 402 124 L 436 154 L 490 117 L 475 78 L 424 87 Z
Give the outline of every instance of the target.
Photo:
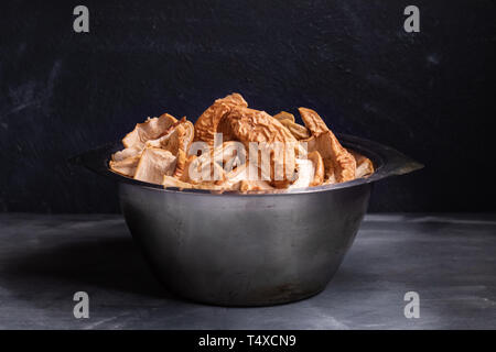
M 287 193 L 176 188 L 112 173 L 114 143 L 75 158 L 119 182 L 120 206 L 157 277 L 182 297 L 222 306 L 294 301 L 325 288 L 352 245 L 374 182 L 422 165 L 378 143 L 338 135 L 369 157 L 368 178 Z

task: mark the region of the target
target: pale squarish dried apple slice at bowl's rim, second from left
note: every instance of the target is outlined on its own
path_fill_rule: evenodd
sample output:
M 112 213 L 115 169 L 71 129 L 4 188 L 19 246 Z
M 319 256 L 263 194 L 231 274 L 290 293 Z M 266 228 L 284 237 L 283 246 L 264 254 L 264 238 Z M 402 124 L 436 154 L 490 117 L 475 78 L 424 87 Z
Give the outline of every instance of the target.
M 163 175 L 172 175 L 175 169 L 176 157 L 171 152 L 155 147 L 148 147 L 143 151 L 134 179 L 161 184 Z

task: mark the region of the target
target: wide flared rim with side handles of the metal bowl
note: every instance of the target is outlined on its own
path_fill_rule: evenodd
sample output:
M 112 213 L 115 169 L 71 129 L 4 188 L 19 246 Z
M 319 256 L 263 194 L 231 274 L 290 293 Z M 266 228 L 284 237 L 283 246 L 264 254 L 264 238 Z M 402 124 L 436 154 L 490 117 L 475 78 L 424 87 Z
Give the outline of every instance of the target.
M 141 188 L 149 188 L 157 191 L 163 193 L 174 193 L 174 194 L 195 194 L 195 195 L 215 195 L 215 196 L 283 196 L 283 195 L 295 195 L 295 194 L 313 194 L 322 193 L 335 189 L 343 189 L 355 187 L 364 184 L 370 184 L 379 179 L 395 176 L 405 175 L 423 167 L 422 164 L 413 161 L 412 158 L 406 156 L 405 154 L 398 152 L 397 150 L 379 144 L 377 142 L 349 135 L 336 133 L 337 139 L 346 148 L 356 151 L 366 157 L 368 157 L 373 164 L 375 172 L 370 176 L 356 178 L 349 182 L 332 184 L 332 185 L 321 185 L 304 188 L 294 189 L 273 189 L 273 190 L 250 190 L 250 191 L 239 191 L 239 190 L 213 190 L 213 189 L 192 189 L 192 188 L 177 188 L 177 187 L 163 187 L 162 185 L 151 184 L 131 177 L 127 177 L 112 172 L 108 167 L 111 154 L 122 148 L 122 144 L 119 142 L 111 142 L 94 150 L 87 151 L 83 154 L 74 156 L 69 160 L 72 164 L 82 165 L 89 170 L 114 179 L 120 184 L 133 185 Z

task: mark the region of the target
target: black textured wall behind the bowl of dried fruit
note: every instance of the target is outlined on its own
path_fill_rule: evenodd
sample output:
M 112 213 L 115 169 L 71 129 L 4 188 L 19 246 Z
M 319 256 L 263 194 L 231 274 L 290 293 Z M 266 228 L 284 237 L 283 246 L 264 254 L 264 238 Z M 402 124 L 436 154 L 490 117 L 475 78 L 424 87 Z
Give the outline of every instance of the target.
M 88 34 L 73 9 L 89 8 Z M 420 8 L 420 33 L 403 9 Z M 494 1 L 2 1 L 0 211 L 114 212 L 116 186 L 66 160 L 231 91 L 304 106 L 335 132 L 425 164 L 373 211 L 494 211 Z

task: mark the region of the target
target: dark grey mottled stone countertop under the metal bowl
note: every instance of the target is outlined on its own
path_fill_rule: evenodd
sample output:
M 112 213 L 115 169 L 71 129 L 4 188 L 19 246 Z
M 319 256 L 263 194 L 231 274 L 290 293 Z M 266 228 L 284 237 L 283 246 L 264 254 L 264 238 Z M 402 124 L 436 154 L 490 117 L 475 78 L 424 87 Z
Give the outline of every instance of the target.
M 76 292 L 89 318 L 76 319 Z M 420 318 L 407 319 L 407 292 Z M 1 329 L 496 329 L 496 215 L 368 215 L 317 296 L 261 308 L 185 301 L 121 216 L 0 215 Z

